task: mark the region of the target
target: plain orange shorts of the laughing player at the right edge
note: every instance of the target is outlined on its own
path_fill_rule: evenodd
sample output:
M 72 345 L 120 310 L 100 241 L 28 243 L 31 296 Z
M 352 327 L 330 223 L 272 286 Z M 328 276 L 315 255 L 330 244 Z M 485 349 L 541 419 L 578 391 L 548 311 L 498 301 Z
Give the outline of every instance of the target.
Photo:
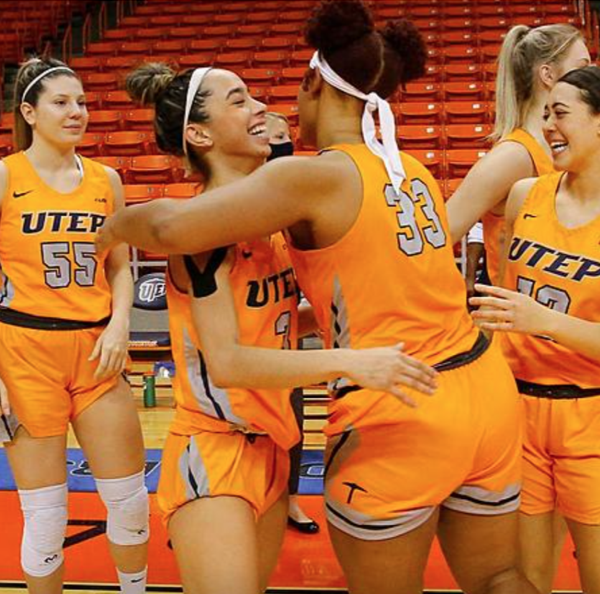
M 523 400 L 521 511 L 556 508 L 576 522 L 600 524 L 600 396 Z

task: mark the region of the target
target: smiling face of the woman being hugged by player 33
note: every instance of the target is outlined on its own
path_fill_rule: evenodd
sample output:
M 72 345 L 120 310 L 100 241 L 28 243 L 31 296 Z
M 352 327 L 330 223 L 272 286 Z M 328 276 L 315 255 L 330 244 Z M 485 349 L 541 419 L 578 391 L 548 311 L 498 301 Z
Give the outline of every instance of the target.
M 228 70 L 211 70 L 201 85 L 210 94 L 205 101 L 208 121 L 190 122 L 188 142 L 207 158 L 269 156 L 265 105 L 253 99 L 242 79 Z

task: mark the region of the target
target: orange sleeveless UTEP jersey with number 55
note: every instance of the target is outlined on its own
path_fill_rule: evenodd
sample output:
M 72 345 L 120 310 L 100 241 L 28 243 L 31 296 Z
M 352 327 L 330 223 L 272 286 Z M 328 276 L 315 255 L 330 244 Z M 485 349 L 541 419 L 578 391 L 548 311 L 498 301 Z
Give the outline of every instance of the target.
M 94 238 L 114 212 L 114 196 L 104 167 L 81 162 L 81 185 L 62 194 L 44 183 L 23 152 L 4 159 L 0 308 L 78 322 L 110 316 L 106 256 L 96 255 Z

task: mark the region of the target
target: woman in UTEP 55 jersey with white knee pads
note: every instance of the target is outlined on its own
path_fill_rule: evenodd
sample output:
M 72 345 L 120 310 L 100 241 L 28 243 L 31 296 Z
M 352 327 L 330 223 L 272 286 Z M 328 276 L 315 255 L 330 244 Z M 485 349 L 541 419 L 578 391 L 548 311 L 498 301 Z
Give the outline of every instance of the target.
M 97 255 L 94 248 L 123 192 L 113 170 L 76 154 L 87 122 L 81 81 L 70 68 L 53 59 L 21 67 L 19 152 L 0 163 L 0 378 L 8 393 L 3 412 L 11 412 L 3 440 L 23 510 L 29 591 L 62 592 L 71 423 L 108 510 L 121 591 L 141 594 L 144 446 L 121 377 L 132 281 L 126 249 Z

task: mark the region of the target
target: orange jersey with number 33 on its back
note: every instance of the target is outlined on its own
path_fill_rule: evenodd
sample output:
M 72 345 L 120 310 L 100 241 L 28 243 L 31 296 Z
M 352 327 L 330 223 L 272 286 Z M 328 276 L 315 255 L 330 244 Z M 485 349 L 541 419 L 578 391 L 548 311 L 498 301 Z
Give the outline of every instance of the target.
M 361 174 L 358 217 L 331 246 L 290 247 L 326 344 L 367 348 L 403 342 L 407 354 L 428 364 L 469 351 L 478 332 L 467 313 L 436 181 L 401 153 L 407 178 L 397 196 L 383 162 L 365 145 L 330 150 L 349 155 Z

